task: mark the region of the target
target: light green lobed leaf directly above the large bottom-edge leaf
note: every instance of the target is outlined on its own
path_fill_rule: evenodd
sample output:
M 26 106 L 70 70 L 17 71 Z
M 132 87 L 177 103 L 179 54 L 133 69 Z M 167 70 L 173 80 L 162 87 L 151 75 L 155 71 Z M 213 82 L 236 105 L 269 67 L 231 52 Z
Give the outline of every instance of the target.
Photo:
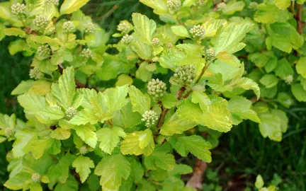
M 108 154 L 112 154 L 115 146 L 118 145 L 120 137 L 125 137 L 126 134 L 120 127 L 103 127 L 96 132 L 98 141 L 100 141 L 100 149 Z

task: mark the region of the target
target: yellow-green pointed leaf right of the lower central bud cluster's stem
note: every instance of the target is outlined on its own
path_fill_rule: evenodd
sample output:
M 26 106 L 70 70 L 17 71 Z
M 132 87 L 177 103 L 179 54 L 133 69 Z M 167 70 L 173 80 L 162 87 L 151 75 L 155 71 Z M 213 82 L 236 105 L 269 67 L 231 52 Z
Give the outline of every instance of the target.
M 162 125 L 159 133 L 165 136 L 181 134 L 182 132 L 191 129 L 196 125 L 196 122 L 181 119 L 177 112 L 175 112 L 174 115 L 171 115 L 171 117 L 169 117 L 169 119 L 164 122 L 164 125 Z

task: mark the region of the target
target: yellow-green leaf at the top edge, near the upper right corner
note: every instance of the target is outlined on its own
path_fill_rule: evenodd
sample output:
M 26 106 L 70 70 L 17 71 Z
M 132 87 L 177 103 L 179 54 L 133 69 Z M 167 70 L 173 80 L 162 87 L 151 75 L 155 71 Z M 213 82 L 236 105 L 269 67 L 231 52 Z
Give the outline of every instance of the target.
M 280 0 L 283 1 L 283 0 Z M 285 22 L 290 14 L 287 10 L 280 10 L 274 4 L 266 2 L 266 4 L 259 4 L 258 10 L 255 13 L 254 20 L 258 23 L 276 23 Z

